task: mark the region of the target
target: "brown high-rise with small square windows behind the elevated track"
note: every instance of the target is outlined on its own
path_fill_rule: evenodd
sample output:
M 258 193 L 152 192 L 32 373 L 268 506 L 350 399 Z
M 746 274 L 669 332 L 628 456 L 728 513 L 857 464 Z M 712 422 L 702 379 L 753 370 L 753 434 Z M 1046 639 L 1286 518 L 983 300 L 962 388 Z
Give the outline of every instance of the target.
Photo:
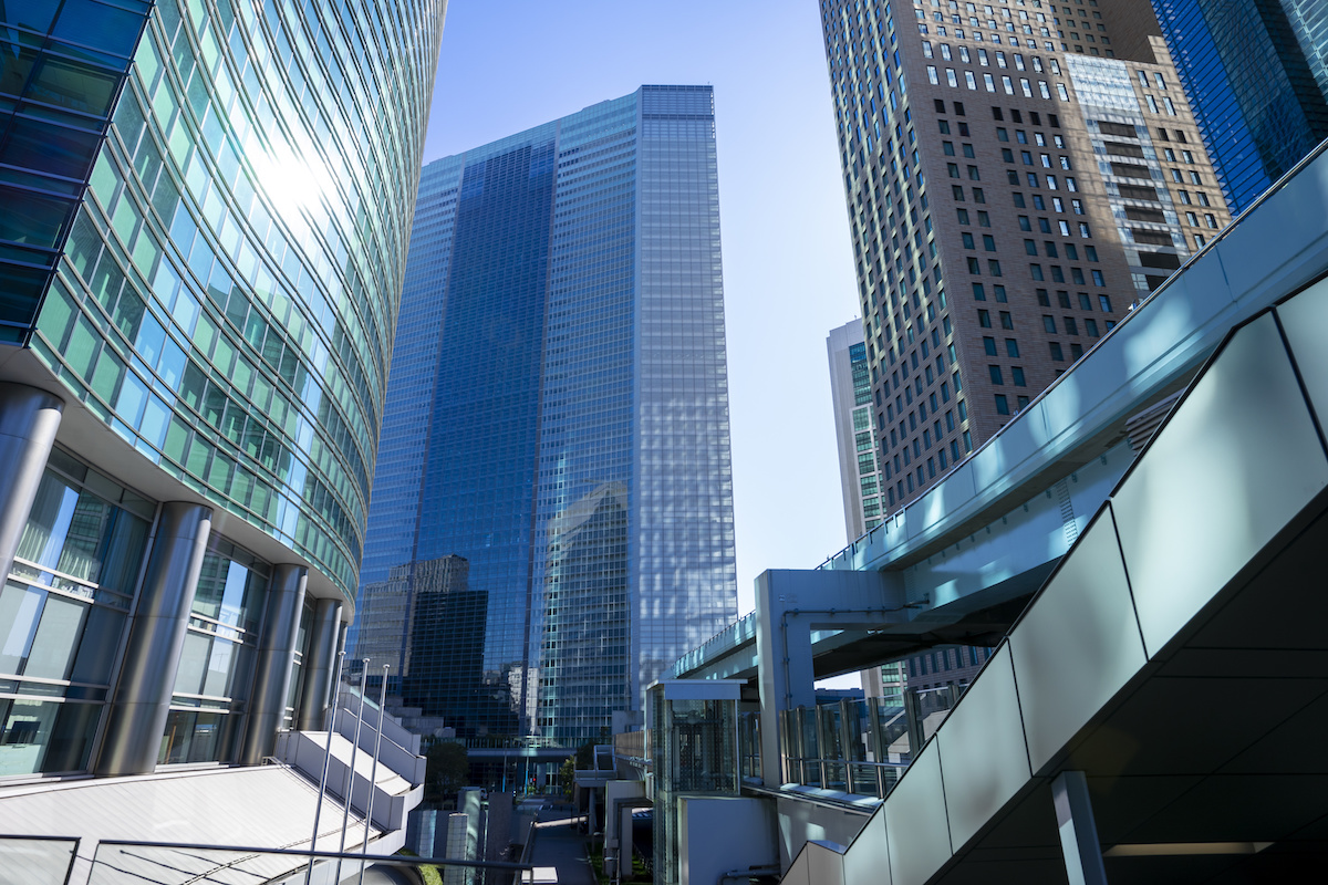
M 1117 4 L 821 12 L 890 513 L 1228 214 L 1163 41 Z

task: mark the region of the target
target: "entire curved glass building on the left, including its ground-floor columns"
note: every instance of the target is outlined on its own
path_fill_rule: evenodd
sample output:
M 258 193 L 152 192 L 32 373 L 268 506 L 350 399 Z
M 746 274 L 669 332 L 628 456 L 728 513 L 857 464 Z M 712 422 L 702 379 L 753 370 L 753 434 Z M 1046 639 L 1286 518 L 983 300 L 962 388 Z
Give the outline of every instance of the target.
M 321 726 L 444 11 L 0 4 L 0 778 Z

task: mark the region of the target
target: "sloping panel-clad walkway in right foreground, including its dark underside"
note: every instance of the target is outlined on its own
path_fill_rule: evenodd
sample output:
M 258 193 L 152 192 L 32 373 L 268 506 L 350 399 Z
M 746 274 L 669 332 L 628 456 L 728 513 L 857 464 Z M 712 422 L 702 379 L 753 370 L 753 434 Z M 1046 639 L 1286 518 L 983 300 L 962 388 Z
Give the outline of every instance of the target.
M 1324 341 L 1328 280 L 1227 337 L 899 785 L 785 882 L 1300 881 L 1328 852 Z

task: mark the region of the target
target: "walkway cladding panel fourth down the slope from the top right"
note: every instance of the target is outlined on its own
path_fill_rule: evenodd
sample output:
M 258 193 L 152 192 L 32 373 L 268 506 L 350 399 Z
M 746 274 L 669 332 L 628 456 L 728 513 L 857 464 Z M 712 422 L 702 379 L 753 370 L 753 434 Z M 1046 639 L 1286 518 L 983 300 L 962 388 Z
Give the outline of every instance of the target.
M 1028 783 L 1028 747 L 1009 645 L 983 669 L 936 734 L 952 845 L 964 845 Z

